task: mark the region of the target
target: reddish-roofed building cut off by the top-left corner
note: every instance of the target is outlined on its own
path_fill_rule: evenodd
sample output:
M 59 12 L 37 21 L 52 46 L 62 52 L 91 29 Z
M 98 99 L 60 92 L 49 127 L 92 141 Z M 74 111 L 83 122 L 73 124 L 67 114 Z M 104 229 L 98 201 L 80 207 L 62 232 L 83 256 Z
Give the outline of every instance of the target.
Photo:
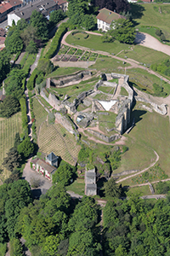
M 16 8 L 20 8 L 22 1 L 20 0 L 8 0 L 0 4 L 0 22 L 7 20 L 8 13 L 12 12 Z

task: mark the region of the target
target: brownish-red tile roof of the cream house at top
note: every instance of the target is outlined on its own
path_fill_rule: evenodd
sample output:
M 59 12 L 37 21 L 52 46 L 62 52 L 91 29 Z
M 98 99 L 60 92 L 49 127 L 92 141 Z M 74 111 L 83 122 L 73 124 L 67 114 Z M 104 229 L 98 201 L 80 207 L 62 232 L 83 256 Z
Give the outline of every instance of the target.
M 103 20 L 108 24 L 111 24 L 111 21 L 118 20 L 118 19 L 126 19 L 124 16 L 119 15 L 115 12 L 112 12 L 110 9 L 100 9 L 99 15 L 96 17 L 98 20 Z

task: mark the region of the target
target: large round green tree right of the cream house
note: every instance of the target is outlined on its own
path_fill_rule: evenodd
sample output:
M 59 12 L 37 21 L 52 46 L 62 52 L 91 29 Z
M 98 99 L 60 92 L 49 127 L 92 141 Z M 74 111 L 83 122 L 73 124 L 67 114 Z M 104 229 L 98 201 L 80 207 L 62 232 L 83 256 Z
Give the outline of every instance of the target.
M 133 22 L 125 19 L 112 21 L 111 29 L 106 33 L 120 43 L 126 44 L 133 44 L 136 35 Z

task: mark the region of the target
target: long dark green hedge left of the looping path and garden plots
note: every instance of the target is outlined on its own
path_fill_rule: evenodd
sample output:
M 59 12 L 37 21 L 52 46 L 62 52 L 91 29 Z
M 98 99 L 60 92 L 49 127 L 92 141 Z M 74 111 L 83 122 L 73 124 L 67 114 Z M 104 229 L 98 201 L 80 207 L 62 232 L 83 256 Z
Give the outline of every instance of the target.
M 62 23 L 59 26 L 57 32 L 54 35 L 53 41 L 50 45 L 50 48 L 48 49 L 48 52 L 45 55 L 45 58 L 51 59 L 54 56 L 55 52 L 57 51 L 57 49 L 59 47 L 59 43 L 60 43 L 62 36 L 67 31 L 67 26 L 68 25 L 66 23 Z

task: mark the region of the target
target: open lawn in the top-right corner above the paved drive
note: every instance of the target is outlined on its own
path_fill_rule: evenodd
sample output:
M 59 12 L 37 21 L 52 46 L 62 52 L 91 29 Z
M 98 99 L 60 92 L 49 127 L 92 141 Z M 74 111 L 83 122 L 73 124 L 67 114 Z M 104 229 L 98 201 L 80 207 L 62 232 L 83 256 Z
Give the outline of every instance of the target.
M 140 6 L 131 5 L 136 14 L 135 21 L 139 23 L 139 27 L 143 26 L 157 26 L 165 34 L 166 38 L 170 39 L 170 5 L 162 3 L 141 4 Z M 136 10 L 135 10 L 136 8 Z M 141 9 L 142 15 L 138 15 Z M 143 9 L 143 10 L 142 10 Z M 137 26 L 137 27 L 138 27 Z

